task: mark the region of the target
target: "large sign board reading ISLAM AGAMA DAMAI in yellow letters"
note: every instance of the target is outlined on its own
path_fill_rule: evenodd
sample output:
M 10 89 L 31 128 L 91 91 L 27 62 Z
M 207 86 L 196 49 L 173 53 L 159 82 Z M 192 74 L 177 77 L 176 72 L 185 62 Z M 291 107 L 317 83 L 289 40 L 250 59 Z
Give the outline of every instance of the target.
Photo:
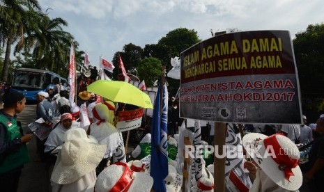
M 217 35 L 180 54 L 180 117 L 301 124 L 289 31 Z

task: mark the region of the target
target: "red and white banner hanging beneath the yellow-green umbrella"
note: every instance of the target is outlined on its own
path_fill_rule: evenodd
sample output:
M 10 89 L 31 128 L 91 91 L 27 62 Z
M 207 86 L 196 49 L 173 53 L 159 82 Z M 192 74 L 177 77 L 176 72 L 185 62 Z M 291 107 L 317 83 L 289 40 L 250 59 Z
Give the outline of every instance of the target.
M 141 118 L 143 116 L 143 108 L 130 111 L 119 111 L 116 128 L 118 131 L 130 131 L 141 127 Z

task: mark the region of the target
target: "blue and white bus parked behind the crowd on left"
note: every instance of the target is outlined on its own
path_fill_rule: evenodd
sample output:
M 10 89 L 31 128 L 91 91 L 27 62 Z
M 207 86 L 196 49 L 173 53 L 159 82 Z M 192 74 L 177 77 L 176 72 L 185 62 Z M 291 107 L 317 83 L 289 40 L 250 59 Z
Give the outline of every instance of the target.
M 37 93 L 42 90 L 46 91 L 47 86 L 52 84 L 54 79 L 59 80 L 62 86 L 68 86 L 68 81 L 54 72 L 18 68 L 13 74 L 10 92 L 20 92 L 24 94 L 27 102 L 36 102 Z

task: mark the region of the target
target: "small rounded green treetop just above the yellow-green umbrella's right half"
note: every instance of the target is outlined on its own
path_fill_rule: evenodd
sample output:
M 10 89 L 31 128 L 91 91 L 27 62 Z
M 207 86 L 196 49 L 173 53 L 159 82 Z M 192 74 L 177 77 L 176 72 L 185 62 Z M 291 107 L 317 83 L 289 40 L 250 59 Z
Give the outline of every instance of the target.
M 146 87 L 153 86 L 162 74 L 162 63 L 158 58 L 144 58 L 137 66 L 138 77 L 145 81 Z

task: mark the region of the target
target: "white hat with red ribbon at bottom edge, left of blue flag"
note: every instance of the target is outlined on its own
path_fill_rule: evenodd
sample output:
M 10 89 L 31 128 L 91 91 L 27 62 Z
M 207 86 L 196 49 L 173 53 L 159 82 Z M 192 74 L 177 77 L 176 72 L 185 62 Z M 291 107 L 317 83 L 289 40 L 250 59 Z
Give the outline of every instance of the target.
M 96 192 L 151 191 L 153 177 L 142 172 L 132 172 L 126 163 L 118 162 L 102 170 L 95 182 Z M 114 188 L 114 190 L 112 190 Z

